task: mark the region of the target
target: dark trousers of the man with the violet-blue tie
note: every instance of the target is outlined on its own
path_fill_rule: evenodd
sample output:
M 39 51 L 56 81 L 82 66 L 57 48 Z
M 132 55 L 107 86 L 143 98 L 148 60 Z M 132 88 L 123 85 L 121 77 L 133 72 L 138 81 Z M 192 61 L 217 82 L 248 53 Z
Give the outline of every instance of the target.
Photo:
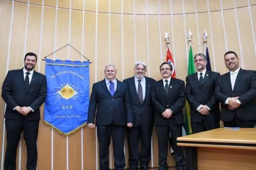
M 124 136 L 125 136 L 125 126 L 118 125 L 104 125 L 97 126 L 97 135 L 99 143 L 99 170 L 109 170 L 109 145 L 112 136 L 114 159 L 115 159 L 115 169 L 123 170 L 125 167 L 124 159 Z

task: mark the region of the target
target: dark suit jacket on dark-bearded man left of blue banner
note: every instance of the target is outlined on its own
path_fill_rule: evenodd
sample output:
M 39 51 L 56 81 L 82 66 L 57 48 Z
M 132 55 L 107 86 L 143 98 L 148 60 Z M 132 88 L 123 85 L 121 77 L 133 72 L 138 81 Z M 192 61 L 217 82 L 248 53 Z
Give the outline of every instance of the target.
M 39 107 L 45 101 L 46 93 L 47 85 L 45 75 L 34 70 L 29 89 L 26 91 L 23 68 L 8 71 L 2 85 L 2 98 L 7 104 L 4 118 L 40 120 Z M 29 106 L 34 112 L 23 116 L 16 110 L 13 110 L 18 105 L 20 107 Z

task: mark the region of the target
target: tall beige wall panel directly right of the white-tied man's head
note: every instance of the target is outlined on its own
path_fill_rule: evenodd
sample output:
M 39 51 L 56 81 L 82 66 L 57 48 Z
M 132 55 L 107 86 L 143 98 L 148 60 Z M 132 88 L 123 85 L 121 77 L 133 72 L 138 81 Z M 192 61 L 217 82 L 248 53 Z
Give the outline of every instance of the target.
M 240 43 L 242 48 L 242 57 L 244 69 L 256 69 L 256 55 L 253 39 L 253 28 L 251 25 L 250 13 L 248 7 L 238 8 L 237 21 L 240 33 Z M 241 62 L 241 61 L 240 61 Z M 240 63 L 240 67 L 242 67 Z

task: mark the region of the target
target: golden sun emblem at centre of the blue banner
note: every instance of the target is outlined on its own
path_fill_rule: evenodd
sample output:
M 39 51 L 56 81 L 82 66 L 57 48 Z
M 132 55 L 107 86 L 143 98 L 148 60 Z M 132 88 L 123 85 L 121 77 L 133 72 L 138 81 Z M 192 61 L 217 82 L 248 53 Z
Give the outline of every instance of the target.
M 77 87 L 72 85 L 71 83 L 63 83 L 59 86 L 59 90 L 57 91 L 57 97 L 69 100 L 71 98 L 76 99 L 78 92 L 76 91 Z

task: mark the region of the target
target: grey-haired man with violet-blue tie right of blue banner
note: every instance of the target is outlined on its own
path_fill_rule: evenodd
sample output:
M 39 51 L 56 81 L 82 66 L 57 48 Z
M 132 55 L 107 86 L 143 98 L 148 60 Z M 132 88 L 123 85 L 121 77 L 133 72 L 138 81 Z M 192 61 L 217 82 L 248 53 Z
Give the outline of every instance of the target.
M 130 95 L 128 85 L 116 79 L 115 66 L 106 66 L 104 73 L 105 79 L 93 84 L 89 102 L 88 127 L 95 128 L 96 115 L 99 169 L 109 170 L 108 153 L 112 136 L 115 169 L 123 170 L 125 167 L 123 152 L 125 126 L 133 126 Z

